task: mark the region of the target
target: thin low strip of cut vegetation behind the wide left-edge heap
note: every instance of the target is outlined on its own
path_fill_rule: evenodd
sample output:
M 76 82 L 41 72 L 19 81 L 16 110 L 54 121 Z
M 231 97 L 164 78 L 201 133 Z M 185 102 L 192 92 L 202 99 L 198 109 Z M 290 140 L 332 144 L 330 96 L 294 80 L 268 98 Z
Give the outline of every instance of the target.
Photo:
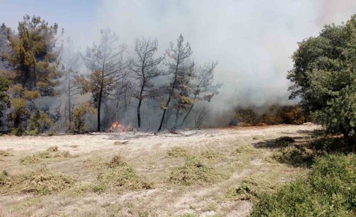
M 20 159 L 20 163 L 23 165 L 26 164 L 36 164 L 43 159 L 49 158 L 72 158 L 75 157 L 71 155 L 68 151 L 58 151 L 58 147 L 53 146 L 47 149 L 47 151 L 39 152 L 32 156 L 26 156 Z

